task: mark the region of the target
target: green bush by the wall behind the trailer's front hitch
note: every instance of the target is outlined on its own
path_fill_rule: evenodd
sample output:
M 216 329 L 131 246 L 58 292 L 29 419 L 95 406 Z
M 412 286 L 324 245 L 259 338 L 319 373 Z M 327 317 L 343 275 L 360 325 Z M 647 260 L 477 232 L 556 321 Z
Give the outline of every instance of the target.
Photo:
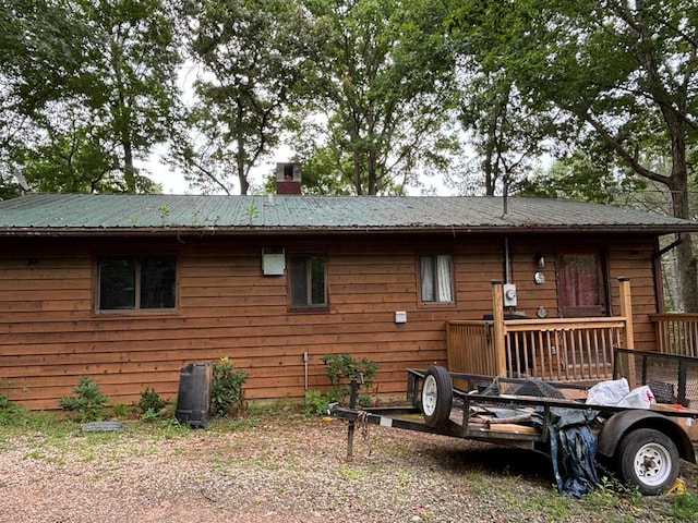
M 325 354 L 322 361 L 332 384 L 332 388 L 327 391 L 330 403 L 345 401 L 351 392 L 351 378 L 357 378 L 359 386 L 363 385 L 366 390 L 370 390 L 374 385 L 373 380 L 378 370 L 378 364 L 373 360 L 368 357 L 356 360 L 351 354 Z M 369 405 L 371 397 L 368 392 L 361 392 L 357 397 L 357 402 L 360 405 Z

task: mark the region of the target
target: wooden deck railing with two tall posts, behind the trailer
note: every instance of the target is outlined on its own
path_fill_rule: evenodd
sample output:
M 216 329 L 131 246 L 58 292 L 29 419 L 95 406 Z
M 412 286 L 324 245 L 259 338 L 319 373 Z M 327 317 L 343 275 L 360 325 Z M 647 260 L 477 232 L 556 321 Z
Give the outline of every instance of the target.
M 493 319 L 448 321 L 448 368 L 454 373 L 535 377 L 551 381 L 613 378 L 613 349 L 631 348 L 630 290 L 621 280 L 621 316 L 504 319 L 494 285 Z M 698 316 L 696 317 L 698 320 Z

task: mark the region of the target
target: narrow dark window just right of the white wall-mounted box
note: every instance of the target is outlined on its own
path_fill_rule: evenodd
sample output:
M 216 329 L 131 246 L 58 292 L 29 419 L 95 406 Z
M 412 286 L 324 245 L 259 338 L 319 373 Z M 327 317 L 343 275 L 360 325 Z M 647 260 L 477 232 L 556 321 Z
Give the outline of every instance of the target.
M 325 258 L 323 256 L 293 256 L 289 258 L 291 307 L 327 306 Z

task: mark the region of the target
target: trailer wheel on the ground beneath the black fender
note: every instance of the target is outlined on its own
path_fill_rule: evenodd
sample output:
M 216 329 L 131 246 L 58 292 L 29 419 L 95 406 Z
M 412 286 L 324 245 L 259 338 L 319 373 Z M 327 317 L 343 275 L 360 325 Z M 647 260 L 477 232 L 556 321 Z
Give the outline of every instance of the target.
M 626 435 L 618 446 L 618 469 L 627 483 L 646 496 L 669 489 L 678 477 L 678 450 L 663 433 L 639 428 Z

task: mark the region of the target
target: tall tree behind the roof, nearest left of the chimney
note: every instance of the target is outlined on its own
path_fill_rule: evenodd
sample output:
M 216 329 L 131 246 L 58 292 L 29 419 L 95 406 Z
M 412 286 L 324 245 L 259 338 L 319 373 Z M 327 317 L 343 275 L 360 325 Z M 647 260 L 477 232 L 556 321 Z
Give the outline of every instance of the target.
M 241 194 L 278 145 L 321 39 L 299 2 L 205 0 L 190 5 L 189 52 L 200 69 L 190 124 L 176 156 L 191 181 Z

